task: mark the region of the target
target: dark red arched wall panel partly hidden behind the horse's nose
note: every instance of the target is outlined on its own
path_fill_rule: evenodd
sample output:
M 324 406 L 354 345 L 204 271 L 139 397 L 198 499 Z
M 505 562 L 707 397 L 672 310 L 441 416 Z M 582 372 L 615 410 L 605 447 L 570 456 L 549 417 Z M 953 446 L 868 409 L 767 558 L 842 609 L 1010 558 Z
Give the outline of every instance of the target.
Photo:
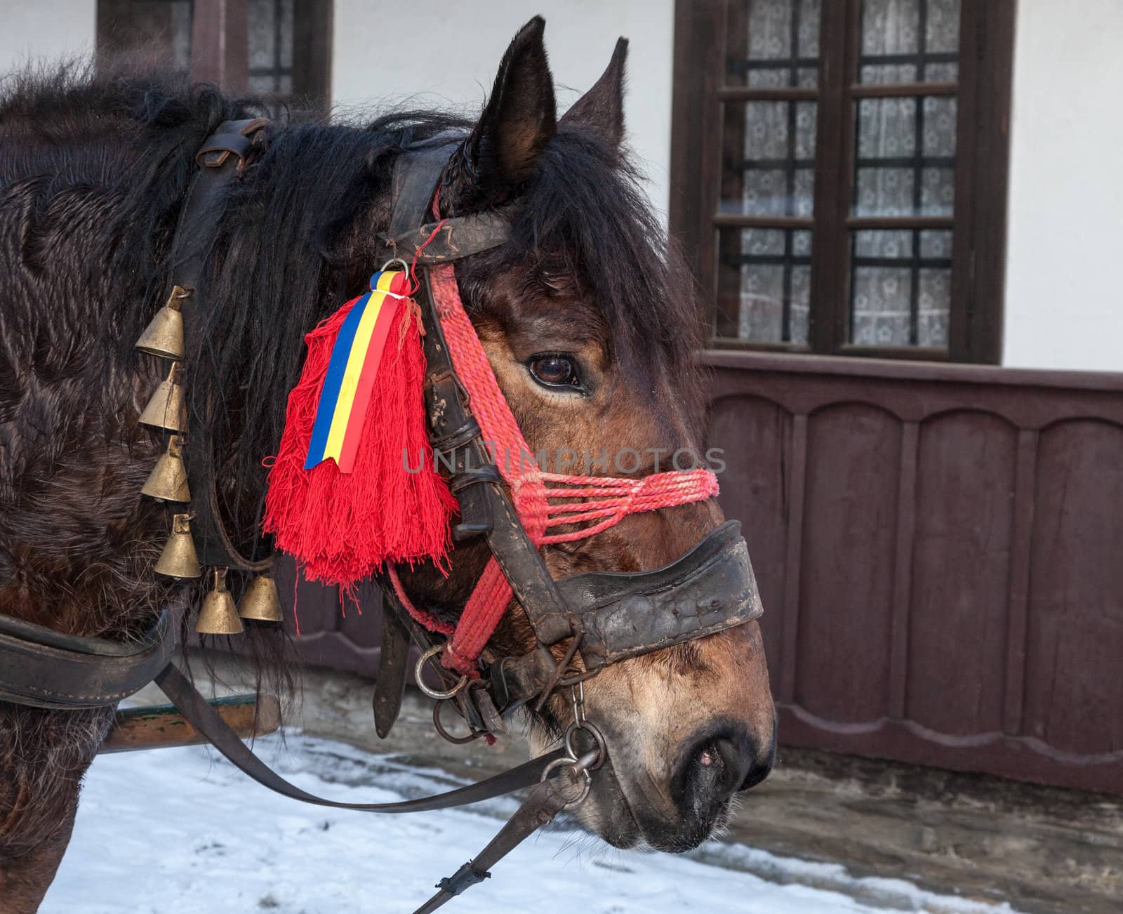
M 778 682 L 784 621 L 784 552 L 792 463 L 792 415 L 768 400 L 731 396 L 710 413 L 707 447 L 721 448 L 721 506 L 741 521 L 765 614 L 760 628 L 773 680 Z

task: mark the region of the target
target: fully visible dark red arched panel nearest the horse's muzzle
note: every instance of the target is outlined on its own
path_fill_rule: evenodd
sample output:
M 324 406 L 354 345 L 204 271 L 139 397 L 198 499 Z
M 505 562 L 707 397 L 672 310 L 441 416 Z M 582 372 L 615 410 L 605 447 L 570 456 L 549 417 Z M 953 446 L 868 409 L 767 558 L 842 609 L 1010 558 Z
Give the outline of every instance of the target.
M 887 713 L 901 422 L 862 403 L 807 421 L 796 701 L 831 721 Z

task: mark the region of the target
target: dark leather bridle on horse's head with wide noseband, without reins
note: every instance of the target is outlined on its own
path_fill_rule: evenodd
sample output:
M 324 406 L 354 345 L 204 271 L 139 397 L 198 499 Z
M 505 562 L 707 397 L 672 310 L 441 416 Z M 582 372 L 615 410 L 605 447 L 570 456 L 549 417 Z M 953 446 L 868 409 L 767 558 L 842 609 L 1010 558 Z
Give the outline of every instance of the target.
M 530 652 L 492 662 L 485 687 L 463 687 L 453 696 L 473 732 L 482 734 L 492 729 L 487 722 L 494 720 L 495 711 L 503 715 L 531 700 L 540 709 L 553 691 L 572 684 L 575 676 L 745 624 L 763 610 L 736 521 L 710 531 L 685 555 L 652 572 L 596 572 L 560 581 L 551 576 L 467 402 L 441 320 L 439 283 L 449 281 L 446 265 L 491 250 L 510 236 L 508 220 L 495 211 L 427 221 L 446 166 L 462 143 L 463 137 L 438 137 L 398 157 L 387 247 L 393 257 L 412 262 L 422 274 L 418 298 L 426 329 L 429 438 L 436 451 L 453 458 L 447 482 L 459 502 L 459 523 L 453 537 L 457 541 L 486 538 L 537 639 Z M 436 275 L 438 269 L 442 276 Z M 403 621 L 416 619 L 418 614 L 410 612 L 400 586 L 387 587 L 386 596 L 391 610 Z M 400 641 L 407 628 L 408 622 L 390 625 L 383 637 Z M 431 639 L 418 628 L 412 625 L 414 640 L 428 647 Z M 567 639 L 568 649 L 559 661 L 550 647 Z M 383 643 L 385 650 L 385 640 Z M 445 651 L 448 649 L 446 645 Z M 393 651 L 393 656 L 402 653 L 400 647 Z M 582 662 L 574 668 L 570 665 L 577 655 Z M 401 684 L 392 676 L 404 679 L 404 669 L 387 665 L 385 675 L 378 676 L 380 694 L 399 694 Z M 459 682 L 467 685 L 463 678 Z M 387 697 L 381 704 L 383 716 L 389 716 L 393 700 Z M 377 716 L 377 700 L 375 706 Z M 386 726 L 389 721 L 380 721 L 380 725 Z

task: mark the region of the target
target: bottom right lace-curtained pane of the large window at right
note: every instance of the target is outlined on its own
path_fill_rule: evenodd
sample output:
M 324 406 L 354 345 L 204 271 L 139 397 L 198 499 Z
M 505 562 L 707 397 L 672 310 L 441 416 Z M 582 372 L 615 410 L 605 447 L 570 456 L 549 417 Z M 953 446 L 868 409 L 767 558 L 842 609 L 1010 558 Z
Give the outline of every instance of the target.
M 850 276 L 850 342 L 947 347 L 950 231 L 857 231 Z

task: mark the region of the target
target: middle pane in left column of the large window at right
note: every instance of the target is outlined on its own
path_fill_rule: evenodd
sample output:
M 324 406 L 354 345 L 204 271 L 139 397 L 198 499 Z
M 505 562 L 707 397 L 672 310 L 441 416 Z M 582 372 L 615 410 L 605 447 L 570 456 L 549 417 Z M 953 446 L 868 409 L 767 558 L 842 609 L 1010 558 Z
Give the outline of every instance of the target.
M 815 102 L 725 104 L 721 212 L 811 216 Z

